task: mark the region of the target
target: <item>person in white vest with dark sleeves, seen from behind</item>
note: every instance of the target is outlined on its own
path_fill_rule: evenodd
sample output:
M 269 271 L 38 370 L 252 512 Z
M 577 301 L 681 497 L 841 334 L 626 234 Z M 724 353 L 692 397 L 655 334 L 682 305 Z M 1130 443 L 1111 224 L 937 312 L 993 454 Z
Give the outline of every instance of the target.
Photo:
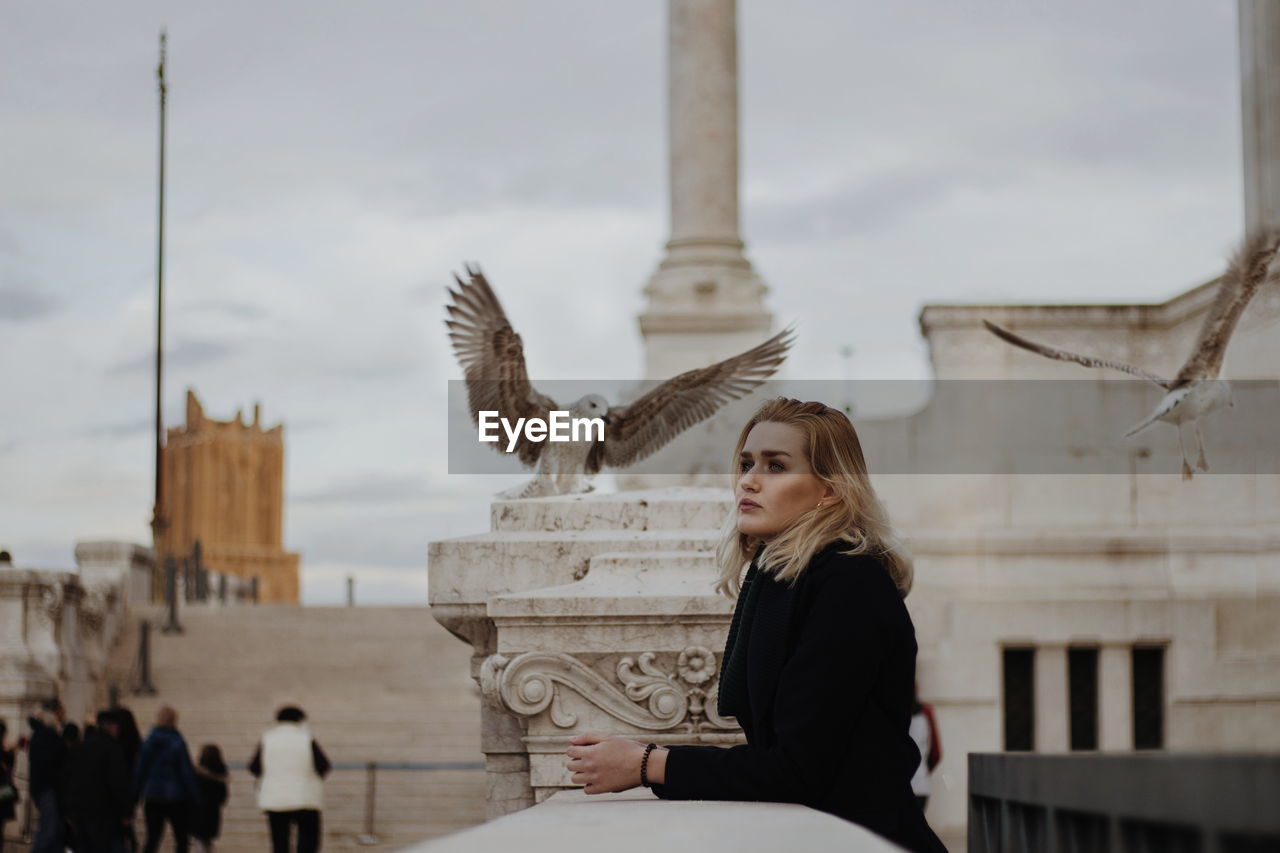
M 332 765 L 311 736 L 302 708 L 285 706 L 276 725 L 262 733 L 248 770 L 257 776 L 257 807 L 266 812 L 271 853 L 289 853 L 293 825 L 298 827 L 297 853 L 320 849 L 320 812 L 324 777 Z

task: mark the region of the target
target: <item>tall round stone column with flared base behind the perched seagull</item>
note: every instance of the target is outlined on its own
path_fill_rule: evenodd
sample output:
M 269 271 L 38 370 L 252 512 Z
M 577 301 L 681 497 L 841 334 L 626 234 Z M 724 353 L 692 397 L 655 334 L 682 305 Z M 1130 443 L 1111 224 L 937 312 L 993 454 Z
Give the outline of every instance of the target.
M 748 350 L 773 323 L 739 233 L 736 0 L 669 0 L 668 31 L 671 240 L 640 316 L 655 379 Z

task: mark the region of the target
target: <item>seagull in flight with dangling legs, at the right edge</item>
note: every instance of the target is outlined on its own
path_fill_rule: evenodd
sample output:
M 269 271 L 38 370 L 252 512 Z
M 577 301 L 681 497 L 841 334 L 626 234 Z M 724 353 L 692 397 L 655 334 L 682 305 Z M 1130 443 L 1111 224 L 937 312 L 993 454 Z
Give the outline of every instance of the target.
M 1199 432 L 1199 419 L 1224 406 L 1234 406 L 1231 401 L 1231 387 L 1225 379 L 1219 379 L 1217 374 L 1222 369 L 1222 359 L 1226 356 L 1226 345 L 1231 341 L 1235 324 L 1244 313 L 1245 306 L 1263 280 L 1267 279 L 1267 270 L 1280 248 L 1280 231 L 1263 229 L 1244 241 L 1240 250 L 1231 259 L 1220 283 L 1217 286 L 1217 298 L 1210 307 L 1201 327 L 1199 337 L 1192 350 L 1190 357 L 1172 379 L 1164 379 L 1140 368 L 1123 364 L 1120 361 L 1107 361 L 1091 356 L 1055 350 L 1034 341 L 1019 337 L 1007 329 L 1002 329 L 995 323 L 983 320 L 987 329 L 998 338 L 1012 343 L 1016 347 L 1030 350 L 1047 359 L 1059 361 L 1074 361 L 1085 368 L 1111 368 L 1124 370 L 1135 377 L 1142 377 L 1153 382 L 1167 393 L 1156 406 L 1155 411 L 1133 429 L 1125 433 L 1125 438 L 1134 435 L 1157 420 L 1172 424 L 1178 429 L 1178 448 L 1183 455 L 1183 479 L 1192 479 L 1192 466 L 1187 460 L 1187 447 L 1183 443 L 1183 425 L 1190 424 L 1196 434 L 1196 448 L 1199 459 L 1196 467 L 1202 471 L 1208 470 L 1204 461 L 1204 441 Z

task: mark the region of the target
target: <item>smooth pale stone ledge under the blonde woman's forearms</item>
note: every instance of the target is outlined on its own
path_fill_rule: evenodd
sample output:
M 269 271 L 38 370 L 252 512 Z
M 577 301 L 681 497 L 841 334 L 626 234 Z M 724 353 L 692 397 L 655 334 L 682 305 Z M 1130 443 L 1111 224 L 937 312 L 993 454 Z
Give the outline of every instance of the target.
M 594 797 L 559 793 L 534 808 L 410 848 L 413 853 L 602 849 L 892 853 L 901 848 L 856 824 L 804 806 L 671 802 L 643 789 Z

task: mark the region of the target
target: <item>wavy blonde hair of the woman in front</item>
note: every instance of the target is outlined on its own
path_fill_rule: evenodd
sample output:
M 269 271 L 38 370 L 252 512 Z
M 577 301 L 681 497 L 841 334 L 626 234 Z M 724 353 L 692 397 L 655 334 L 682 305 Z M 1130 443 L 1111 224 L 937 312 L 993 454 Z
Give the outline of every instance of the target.
M 842 539 L 850 547 L 841 553 L 879 557 L 899 593 L 906 598 L 911 592 L 914 575 L 911 557 L 893 535 L 888 514 L 876 497 L 867 474 L 861 442 L 849 418 L 820 402 L 800 402 L 787 397 L 769 400 L 746 421 L 737 437 L 730 469 L 733 471 L 731 487 L 735 489 L 741 476 L 739 456 L 742 446 L 751 429 L 762 423 L 786 424 L 804 434 L 809 470 L 835 489 L 837 500 L 828 506 L 809 510 L 767 542 L 740 533 L 736 514 L 731 512 L 716 549 L 721 570 L 716 592 L 730 598 L 737 597 L 742 588 L 742 570 L 762 544 L 764 551 L 760 553 L 759 569 L 769 571 L 778 580 L 795 583 L 814 553 L 828 543 Z

